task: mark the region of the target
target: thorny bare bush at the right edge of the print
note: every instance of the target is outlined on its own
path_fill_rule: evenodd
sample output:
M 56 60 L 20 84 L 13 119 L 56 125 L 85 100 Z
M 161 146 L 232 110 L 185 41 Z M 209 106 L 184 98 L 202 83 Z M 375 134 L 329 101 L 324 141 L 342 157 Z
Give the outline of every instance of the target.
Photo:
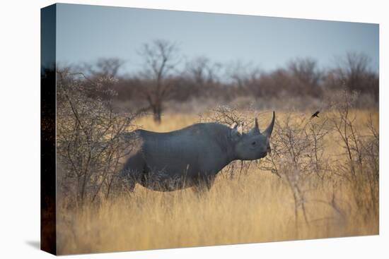
M 367 131 L 356 127 L 358 118 L 352 114 L 358 99 L 356 92 L 344 88 L 339 100 L 332 106 L 332 125 L 340 137 L 342 155 L 346 163 L 337 163 L 335 174 L 352 183 L 356 205 L 364 212 L 364 217 L 376 215 L 378 219 L 379 195 L 379 133 L 370 114 L 366 123 Z M 364 193 L 365 195 L 361 195 Z

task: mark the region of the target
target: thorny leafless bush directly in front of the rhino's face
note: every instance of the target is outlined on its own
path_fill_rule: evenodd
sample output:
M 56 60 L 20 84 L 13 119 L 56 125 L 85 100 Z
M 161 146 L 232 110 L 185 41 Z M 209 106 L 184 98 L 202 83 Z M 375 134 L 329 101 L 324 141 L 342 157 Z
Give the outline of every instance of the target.
M 296 224 L 299 211 L 309 224 L 306 193 L 316 188 L 328 172 L 329 161 L 324 150 L 330 131 L 327 119 L 316 121 L 307 114 L 286 113 L 284 118 L 277 119 L 271 138 L 272 152 L 260 164 L 261 169 L 276 174 L 291 189 Z

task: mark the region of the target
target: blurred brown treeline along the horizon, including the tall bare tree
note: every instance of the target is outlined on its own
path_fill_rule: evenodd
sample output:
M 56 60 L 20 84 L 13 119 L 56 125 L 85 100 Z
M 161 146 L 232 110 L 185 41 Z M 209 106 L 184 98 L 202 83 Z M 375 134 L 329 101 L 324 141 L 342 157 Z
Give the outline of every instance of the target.
M 175 44 L 163 40 L 144 44 L 138 53 L 144 66 L 132 75 L 118 76 L 124 64 L 120 59 L 100 59 L 79 69 L 89 78 L 117 78 L 117 83 L 110 85 L 117 92 L 117 100 L 150 109 L 157 121 L 166 102 L 231 102 L 238 97 L 320 99 L 344 87 L 378 104 L 378 73 L 371 69 L 370 58 L 363 53 L 347 53 L 330 68 L 320 68 L 314 59 L 304 58 L 291 60 L 274 71 L 261 71 L 241 62 L 218 64 L 206 57 L 182 64 Z

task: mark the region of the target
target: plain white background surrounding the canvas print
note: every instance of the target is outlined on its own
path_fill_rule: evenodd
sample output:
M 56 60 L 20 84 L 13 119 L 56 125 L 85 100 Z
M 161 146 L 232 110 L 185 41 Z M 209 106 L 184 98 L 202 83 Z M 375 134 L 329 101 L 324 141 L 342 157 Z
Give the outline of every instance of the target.
M 385 1 L 66 1 L 169 10 L 380 23 L 380 236 L 256 243 L 71 258 L 388 258 L 388 46 Z M 49 258 L 40 239 L 40 8 L 54 1 L 1 1 L 0 258 Z M 356 42 L 357 44 L 357 42 Z M 385 48 L 386 47 L 386 48 Z M 4 59 L 5 57 L 5 59 Z M 386 102 L 386 103 L 385 103 Z M 388 116 L 386 116 L 388 118 Z M 384 131 L 384 133 L 383 133 Z

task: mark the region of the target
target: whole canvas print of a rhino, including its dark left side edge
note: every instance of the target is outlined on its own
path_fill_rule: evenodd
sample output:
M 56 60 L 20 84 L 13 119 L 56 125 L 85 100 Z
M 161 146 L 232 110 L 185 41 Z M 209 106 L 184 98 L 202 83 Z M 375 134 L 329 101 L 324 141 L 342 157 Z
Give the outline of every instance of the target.
M 41 14 L 42 250 L 378 234 L 378 24 Z

